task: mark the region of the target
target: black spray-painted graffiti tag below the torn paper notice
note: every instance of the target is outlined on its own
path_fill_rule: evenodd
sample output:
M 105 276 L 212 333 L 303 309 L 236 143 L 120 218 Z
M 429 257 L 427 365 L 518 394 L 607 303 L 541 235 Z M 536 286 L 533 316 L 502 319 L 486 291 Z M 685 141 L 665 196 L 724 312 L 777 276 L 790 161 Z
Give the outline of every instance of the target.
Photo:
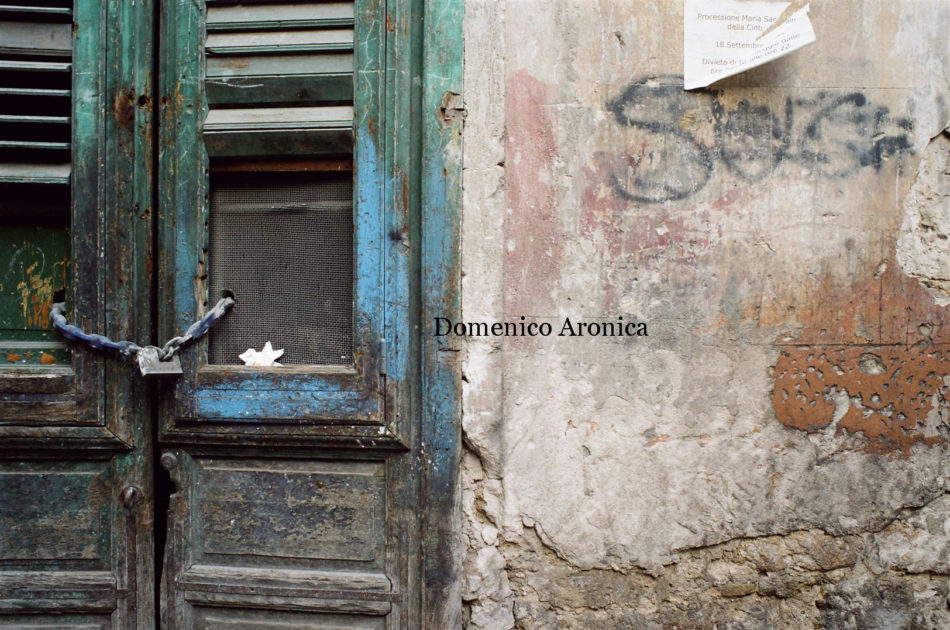
M 749 99 L 727 107 L 716 93 L 685 92 L 682 77 L 662 76 L 634 82 L 607 109 L 628 141 L 611 185 L 642 203 L 689 197 L 720 163 L 748 181 L 783 162 L 832 178 L 913 152 L 912 121 L 890 116 L 861 92 L 788 97 L 775 111 Z M 697 131 L 703 122 L 711 137 Z

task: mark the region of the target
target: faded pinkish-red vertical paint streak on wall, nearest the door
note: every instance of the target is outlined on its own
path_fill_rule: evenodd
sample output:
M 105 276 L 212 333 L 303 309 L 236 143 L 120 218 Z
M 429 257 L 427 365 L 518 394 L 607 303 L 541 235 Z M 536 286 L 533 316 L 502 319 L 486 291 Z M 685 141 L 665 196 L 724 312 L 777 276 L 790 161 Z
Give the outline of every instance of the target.
M 507 81 L 505 177 L 505 311 L 553 314 L 560 274 L 561 235 L 552 182 L 557 156 L 553 89 L 526 70 Z

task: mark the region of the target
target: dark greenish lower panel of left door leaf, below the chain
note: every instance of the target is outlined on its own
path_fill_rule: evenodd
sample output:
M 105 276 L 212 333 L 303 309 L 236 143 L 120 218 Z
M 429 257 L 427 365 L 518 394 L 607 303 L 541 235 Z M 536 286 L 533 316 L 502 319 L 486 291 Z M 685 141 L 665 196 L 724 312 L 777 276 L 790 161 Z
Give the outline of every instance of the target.
M 127 461 L 0 461 L 0 627 L 10 613 L 96 612 L 126 628 L 153 609 L 136 601 L 151 583 L 136 553 L 151 554 L 151 531 L 139 527 L 148 506 L 124 505 Z M 15 619 L 44 627 L 42 616 Z

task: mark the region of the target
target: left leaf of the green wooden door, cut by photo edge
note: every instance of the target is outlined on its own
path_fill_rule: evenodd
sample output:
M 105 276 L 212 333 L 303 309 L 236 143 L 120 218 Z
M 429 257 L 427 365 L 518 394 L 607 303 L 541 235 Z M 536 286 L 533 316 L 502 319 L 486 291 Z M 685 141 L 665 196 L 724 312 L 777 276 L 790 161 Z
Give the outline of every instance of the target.
M 0 628 L 155 627 L 147 4 L 0 3 Z

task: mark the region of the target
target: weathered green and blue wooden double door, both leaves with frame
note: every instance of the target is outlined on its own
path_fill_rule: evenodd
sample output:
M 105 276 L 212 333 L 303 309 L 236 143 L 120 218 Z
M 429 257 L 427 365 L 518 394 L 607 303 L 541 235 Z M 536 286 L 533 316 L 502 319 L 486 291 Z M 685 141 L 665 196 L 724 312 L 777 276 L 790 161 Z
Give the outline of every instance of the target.
M 17 5 L 0 628 L 451 625 L 456 383 L 418 322 L 455 304 L 458 12 Z M 160 344 L 224 293 L 177 376 L 49 326 L 61 295 L 87 331 Z M 238 359 L 266 342 L 282 365 Z

